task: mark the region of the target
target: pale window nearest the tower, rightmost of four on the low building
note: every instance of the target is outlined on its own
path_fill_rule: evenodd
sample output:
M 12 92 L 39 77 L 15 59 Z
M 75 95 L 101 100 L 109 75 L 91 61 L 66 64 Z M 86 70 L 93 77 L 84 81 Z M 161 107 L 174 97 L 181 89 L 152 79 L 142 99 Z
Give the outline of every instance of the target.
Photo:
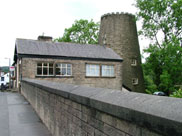
M 114 77 L 114 66 L 102 65 L 102 76 Z

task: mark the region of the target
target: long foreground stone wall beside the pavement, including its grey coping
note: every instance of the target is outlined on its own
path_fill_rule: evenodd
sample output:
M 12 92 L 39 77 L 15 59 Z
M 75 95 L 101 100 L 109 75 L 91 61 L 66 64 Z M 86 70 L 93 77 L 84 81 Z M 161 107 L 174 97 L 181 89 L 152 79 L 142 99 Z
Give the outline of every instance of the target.
M 23 79 L 22 94 L 53 136 L 181 136 L 182 101 Z

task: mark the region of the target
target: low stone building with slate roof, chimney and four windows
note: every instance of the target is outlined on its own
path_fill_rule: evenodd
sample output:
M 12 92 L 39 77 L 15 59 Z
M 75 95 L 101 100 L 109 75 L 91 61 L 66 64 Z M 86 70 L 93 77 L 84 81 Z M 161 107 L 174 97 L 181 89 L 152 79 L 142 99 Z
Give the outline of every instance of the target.
M 122 58 L 100 45 L 17 39 L 16 86 L 36 78 L 90 87 L 122 89 Z M 48 37 L 49 38 L 49 37 Z

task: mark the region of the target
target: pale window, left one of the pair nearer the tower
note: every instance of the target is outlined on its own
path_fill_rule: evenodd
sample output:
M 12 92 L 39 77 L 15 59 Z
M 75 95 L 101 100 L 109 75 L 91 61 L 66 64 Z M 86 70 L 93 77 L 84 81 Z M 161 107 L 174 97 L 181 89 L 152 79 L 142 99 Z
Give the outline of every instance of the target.
M 86 64 L 86 76 L 100 76 L 100 66 Z

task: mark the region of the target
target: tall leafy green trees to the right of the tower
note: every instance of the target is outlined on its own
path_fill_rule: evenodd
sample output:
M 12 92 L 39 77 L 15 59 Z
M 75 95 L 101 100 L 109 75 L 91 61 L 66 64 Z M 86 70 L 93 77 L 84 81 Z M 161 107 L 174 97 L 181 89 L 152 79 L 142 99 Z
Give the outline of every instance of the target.
M 182 84 L 182 0 L 136 0 L 136 7 L 142 20 L 139 34 L 151 39 L 143 68 L 145 79 L 152 81 L 145 82 L 169 95 L 175 84 Z

